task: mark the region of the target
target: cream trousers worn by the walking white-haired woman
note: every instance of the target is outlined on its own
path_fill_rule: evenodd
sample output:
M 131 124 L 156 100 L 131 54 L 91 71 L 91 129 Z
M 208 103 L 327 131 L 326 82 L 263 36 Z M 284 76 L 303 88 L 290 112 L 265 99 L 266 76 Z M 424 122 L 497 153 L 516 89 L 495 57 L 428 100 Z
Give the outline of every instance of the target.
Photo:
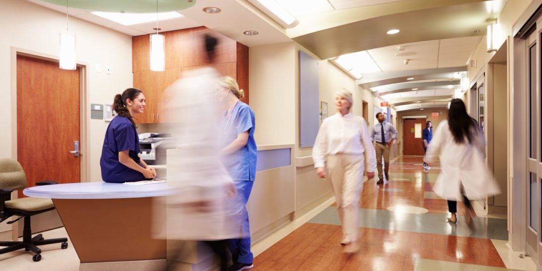
M 363 189 L 364 157 L 333 154 L 327 157 L 327 168 L 337 201 L 343 237 L 347 242 L 358 240 L 359 196 Z

